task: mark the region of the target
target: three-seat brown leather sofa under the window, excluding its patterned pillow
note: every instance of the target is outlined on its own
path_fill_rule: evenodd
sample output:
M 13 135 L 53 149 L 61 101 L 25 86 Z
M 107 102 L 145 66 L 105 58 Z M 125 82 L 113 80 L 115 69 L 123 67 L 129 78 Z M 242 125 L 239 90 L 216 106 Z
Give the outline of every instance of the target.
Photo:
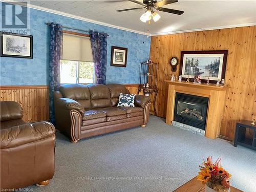
M 56 127 L 71 142 L 134 126 L 146 126 L 150 97 L 136 95 L 135 107 L 117 107 L 122 84 L 65 84 L 54 92 Z

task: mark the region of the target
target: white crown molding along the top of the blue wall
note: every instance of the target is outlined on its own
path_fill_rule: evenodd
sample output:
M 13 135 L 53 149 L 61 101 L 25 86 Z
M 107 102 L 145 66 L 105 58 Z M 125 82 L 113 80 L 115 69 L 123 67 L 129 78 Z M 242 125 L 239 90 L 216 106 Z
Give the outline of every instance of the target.
M 145 35 L 145 33 L 142 32 L 142 31 L 137 31 L 137 30 L 133 30 L 133 29 L 125 28 L 125 27 L 120 27 L 120 26 L 112 25 L 112 24 L 107 24 L 107 23 L 104 23 L 104 22 L 98 22 L 97 20 L 89 19 L 89 18 L 86 18 L 86 17 L 76 16 L 76 15 L 72 15 L 72 14 L 69 14 L 69 13 L 64 13 L 64 12 L 61 12 L 61 11 L 56 11 L 56 10 L 53 10 L 53 9 L 48 9 L 48 8 L 44 8 L 44 7 L 40 7 L 40 6 L 36 6 L 36 5 L 31 5 L 31 4 L 29 4 L 29 2 L 28 2 L 27 5 L 25 5 L 25 4 L 23 4 L 23 2 L 15 2 L 15 1 L 11 1 L 11 0 L 0 0 L 0 1 L 1 2 L 5 2 L 5 3 L 9 3 L 9 4 L 15 4 L 15 5 L 20 5 L 20 6 L 28 7 L 28 8 L 31 8 L 31 9 L 45 11 L 45 12 L 48 12 L 48 13 L 62 15 L 62 16 L 70 17 L 70 18 L 75 18 L 75 19 L 78 19 L 78 20 L 83 20 L 84 22 L 89 22 L 89 23 L 93 23 L 93 24 L 98 24 L 98 25 L 106 26 L 106 27 L 120 29 L 120 30 L 123 30 L 123 31 L 129 31 L 129 32 Z M 46 21 L 46 22 L 48 22 L 48 21 Z M 146 35 L 151 36 L 151 34 L 146 34 Z

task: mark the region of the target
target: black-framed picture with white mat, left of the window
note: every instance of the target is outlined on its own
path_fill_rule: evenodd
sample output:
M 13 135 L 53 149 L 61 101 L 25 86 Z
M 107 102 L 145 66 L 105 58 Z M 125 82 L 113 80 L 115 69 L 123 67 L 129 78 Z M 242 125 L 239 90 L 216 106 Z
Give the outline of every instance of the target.
M 33 36 L 0 32 L 1 57 L 33 58 Z

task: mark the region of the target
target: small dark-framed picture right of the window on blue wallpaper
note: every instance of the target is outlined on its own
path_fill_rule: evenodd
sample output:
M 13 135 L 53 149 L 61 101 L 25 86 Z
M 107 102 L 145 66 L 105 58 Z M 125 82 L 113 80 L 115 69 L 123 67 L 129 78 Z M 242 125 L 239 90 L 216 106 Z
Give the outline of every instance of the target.
M 110 66 L 126 67 L 127 50 L 127 48 L 112 46 Z

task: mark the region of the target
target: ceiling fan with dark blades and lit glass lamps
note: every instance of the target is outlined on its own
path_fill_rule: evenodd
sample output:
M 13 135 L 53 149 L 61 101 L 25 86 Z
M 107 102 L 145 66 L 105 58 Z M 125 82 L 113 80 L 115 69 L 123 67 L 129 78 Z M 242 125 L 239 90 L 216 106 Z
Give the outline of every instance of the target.
M 163 11 L 163 12 L 167 12 L 167 13 L 173 13 L 173 14 L 177 14 L 177 15 L 181 15 L 182 13 L 184 13 L 184 11 L 179 11 L 179 10 L 175 10 L 175 9 L 168 9 L 168 8 L 163 8 L 160 6 L 163 5 L 168 5 L 168 4 L 173 4 L 178 2 L 178 0 L 162 0 L 162 1 L 157 1 L 157 0 L 143 0 L 143 3 L 136 1 L 136 0 L 128 0 L 130 2 L 142 5 L 144 7 L 138 7 L 138 8 L 130 8 L 130 9 L 122 9 L 122 10 L 117 10 L 118 12 L 122 12 L 122 11 L 131 11 L 131 10 L 137 10 L 137 9 L 144 9 L 146 8 L 145 13 L 143 13 L 140 17 L 140 20 L 144 23 L 151 20 L 151 18 L 153 18 L 154 22 L 157 22 L 160 19 L 160 15 L 158 13 L 156 13 L 154 11 L 154 9 L 156 9 L 157 11 Z

